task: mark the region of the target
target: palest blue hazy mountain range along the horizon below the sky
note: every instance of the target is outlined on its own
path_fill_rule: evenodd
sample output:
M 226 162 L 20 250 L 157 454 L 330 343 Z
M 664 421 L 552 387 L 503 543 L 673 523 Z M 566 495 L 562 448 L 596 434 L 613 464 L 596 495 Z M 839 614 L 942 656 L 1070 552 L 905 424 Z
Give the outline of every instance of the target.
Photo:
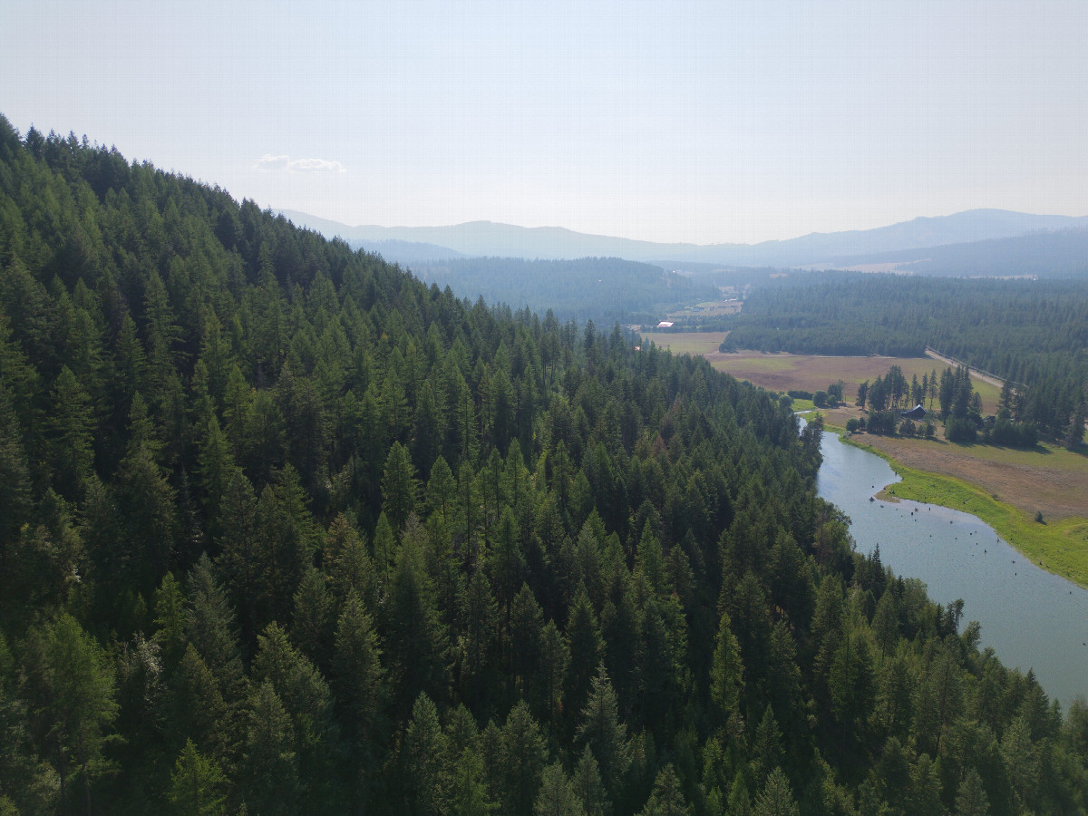
M 917 218 L 875 230 L 812 233 L 790 240 L 761 244 L 697 245 L 657 244 L 589 235 L 556 226 L 523 227 L 490 221 L 453 226 L 348 226 L 306 213 L 283 212 L 296 224 L 309 226 L 330 237 L 339 235 L 353 246 L 399 240 L 432 245 L 465 256 L 539 259 L 614 257 L 666 265 L 670 261 L 749 267 L 838 265 L 848 258 L 880 252 L 1011 238 L 1044 231 L 1088 228 L 1088 217 L 968 210 L 953 215 Z M 910 260 L 918 260 L 919 257 L 924 256 Z

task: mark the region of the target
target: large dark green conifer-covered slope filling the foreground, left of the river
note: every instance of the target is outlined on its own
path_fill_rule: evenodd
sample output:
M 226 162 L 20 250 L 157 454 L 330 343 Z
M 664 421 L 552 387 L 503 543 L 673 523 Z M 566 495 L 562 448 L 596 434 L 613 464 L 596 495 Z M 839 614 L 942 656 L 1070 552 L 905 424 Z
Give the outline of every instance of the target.
M 818 430 L 0 119 L 0 813 L 1084 813 Z

